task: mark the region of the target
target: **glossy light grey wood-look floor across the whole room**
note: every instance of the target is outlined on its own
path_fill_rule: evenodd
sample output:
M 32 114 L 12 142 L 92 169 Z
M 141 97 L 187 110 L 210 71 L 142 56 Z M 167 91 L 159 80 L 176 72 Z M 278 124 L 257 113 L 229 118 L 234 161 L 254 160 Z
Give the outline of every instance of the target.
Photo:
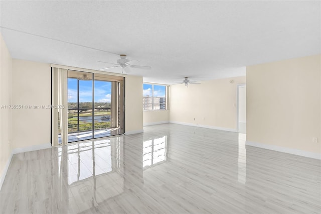
M 1 213 L 320 213 L 321 161 L 164 124 L 13 156 Z

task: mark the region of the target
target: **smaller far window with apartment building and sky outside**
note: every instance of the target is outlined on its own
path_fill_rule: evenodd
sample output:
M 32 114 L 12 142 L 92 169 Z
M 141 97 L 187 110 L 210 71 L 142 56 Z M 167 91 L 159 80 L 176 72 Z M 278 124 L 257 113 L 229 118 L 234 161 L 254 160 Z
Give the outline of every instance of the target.
M 167 86 L 155 84 L 143 84 L 143 110 L 167 109 Z

